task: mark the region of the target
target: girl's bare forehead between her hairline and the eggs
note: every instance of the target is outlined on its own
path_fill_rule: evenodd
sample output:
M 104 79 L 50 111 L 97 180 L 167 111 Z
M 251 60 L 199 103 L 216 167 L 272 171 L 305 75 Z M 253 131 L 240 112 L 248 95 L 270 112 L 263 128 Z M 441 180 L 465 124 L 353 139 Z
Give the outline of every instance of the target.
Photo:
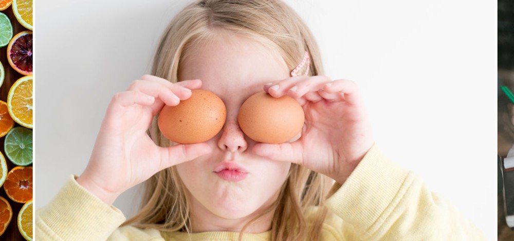
M 201 79 L 202 88 L 216 94 L 262 90 L 263 84 L 289 76 L 284 60 L 276 52 L 230 32 L 200 41 L 183 56 L 179 80 Z

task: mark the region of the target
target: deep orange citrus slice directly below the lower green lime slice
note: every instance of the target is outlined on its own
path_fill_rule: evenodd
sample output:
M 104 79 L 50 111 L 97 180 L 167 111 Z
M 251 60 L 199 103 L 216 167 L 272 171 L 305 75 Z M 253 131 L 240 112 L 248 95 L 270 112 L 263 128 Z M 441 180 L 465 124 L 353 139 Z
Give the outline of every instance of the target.
M 16 203 L 27 203 L 32 199 L 32 167 L 14 167 L 7 173 L 5 193 Z

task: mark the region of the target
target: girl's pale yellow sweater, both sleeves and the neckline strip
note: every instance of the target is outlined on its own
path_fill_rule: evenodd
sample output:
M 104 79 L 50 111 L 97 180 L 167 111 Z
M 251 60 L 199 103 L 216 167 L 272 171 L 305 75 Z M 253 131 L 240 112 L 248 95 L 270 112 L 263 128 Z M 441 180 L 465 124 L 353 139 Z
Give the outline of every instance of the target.
M 486 240 L 447 200 L 431 193 L 373 146 L 344 185 L 326 199 L 323 240 Z M 237 232 L 164 233 L 131 226 L 70 177 L 47 206 L 36 211 L 35 240 L 237 240 Z M 270 240 L 270 232 L 244 240 Z M 308 238 L 307 238 L 308 239 Z

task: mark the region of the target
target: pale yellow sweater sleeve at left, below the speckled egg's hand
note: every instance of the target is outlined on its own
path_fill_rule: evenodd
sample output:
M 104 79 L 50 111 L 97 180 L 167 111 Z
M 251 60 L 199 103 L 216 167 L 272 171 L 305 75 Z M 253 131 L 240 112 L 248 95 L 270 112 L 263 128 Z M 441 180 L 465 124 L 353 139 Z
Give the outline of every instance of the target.
M 35 214 L 36 240 L 106 240 L 125 220 L 120 210 L 90 194 L 71 176 Z

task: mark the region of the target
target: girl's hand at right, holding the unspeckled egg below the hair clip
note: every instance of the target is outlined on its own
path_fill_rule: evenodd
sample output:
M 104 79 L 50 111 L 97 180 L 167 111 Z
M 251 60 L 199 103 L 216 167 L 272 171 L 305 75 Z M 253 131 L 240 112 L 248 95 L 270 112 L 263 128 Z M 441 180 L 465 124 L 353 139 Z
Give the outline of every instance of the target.
M 343 184 L 374 143 L 354 82 L 297 76 L 264 86 L 274 97 L 295 97 L 305 112 L 302 136 L 279 145 L 256 144 L 255 154 L 303 165 Z

